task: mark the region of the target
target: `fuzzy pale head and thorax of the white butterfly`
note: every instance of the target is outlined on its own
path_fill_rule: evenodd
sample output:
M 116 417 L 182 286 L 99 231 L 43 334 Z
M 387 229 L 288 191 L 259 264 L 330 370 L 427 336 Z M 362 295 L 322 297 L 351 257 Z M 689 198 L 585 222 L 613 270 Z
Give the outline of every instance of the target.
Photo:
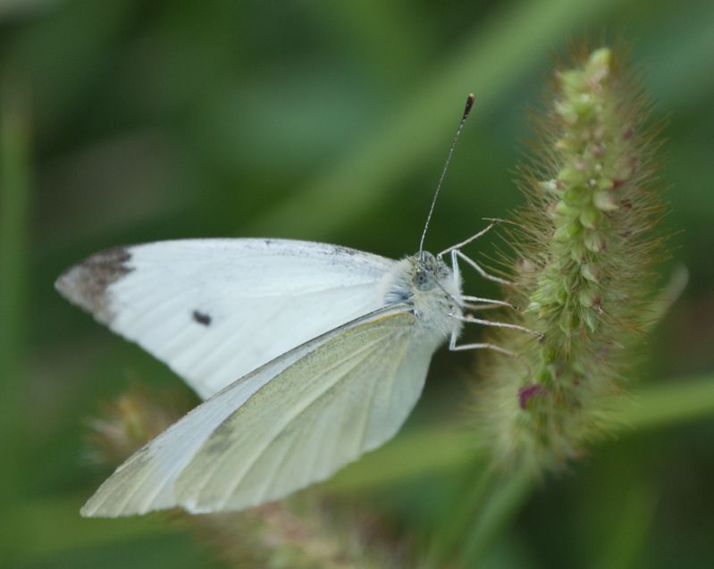
M 401 259 L 382 280 L 380 294 L 386 304 L 412 306 L 424 333 L 439 343 L 461 323 L 455 297 L 461 294 L 461 282 L 449 266 L 431 253 L 421 252 Z

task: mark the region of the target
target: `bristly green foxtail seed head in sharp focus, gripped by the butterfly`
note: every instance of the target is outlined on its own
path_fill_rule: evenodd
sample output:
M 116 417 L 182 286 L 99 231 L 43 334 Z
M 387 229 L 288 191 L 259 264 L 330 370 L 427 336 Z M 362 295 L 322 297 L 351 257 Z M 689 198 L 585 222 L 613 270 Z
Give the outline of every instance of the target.
M 527 205 L 515 235 L 517 323 L 542 340 L 501 331 L 500 356 L 475 389 L 483 436 L 500 462 L 534 472 L 582 456 L 607 431 L 631 347 L 642 339 L 662 256 L 651 230 L 661 214 L 652 185 L 656 134 L 649 104 L 617 50 L 575 56 L 558 71 L 539 142 L 521 171 Z

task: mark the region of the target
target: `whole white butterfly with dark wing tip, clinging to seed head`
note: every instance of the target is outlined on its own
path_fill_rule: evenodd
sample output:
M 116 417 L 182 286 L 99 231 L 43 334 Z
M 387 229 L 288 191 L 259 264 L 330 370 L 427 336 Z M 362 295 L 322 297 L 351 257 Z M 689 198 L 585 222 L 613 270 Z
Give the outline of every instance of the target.
M 461 250 L 497 221 L 432 255 L 423 245 L 435 198 L 419 251 L 401 260 L 205 238 L 115 247 L 64 272 L 55 283 L 64 297 L 204 399 L 121 464 L 81 514 L 200 514 L 283 498 L 391 439 L 444 342 L 507 352 L 457 345 L 465 322 L 518 328 L 468 314 L 508 303 L 461 289 L 459 259 L 503 282 Z

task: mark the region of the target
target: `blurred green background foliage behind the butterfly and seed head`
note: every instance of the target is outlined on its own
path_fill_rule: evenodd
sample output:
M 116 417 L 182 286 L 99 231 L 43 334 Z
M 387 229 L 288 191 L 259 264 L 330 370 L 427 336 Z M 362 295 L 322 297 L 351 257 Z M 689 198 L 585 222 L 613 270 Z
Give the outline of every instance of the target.
M 411 253 L 473 91 L 427 239 L 447 247 L 520 203 L 526 109 L 551 56 L 603 30 L 632 46 L 653 118 L 668 117 L 662 274 L 684 264 L 690 282 L 648 339 L 635 391 L 676 399 L 693 380 L 714 385 L 710 0 L 0 2 L 0 565 L 222 566 L 155 518 L 80 519 L 102 478 L 82 461 L 87 417 L 130 377 L 179 380 L 64 302 L 59 272 L 163 238 Z M 412 466 L 399 448 L 424 453 L 420 433 L 458 421 L 473 358 L 437 355 L 406 432 L 366 463 L 398 475 L 363 484 L 357 464 L 340 491 L 389 509 L 417 544 L 450 544 L 458 566 L 714 566 L 714 416 L 685 404 L 516 492 L 485 530 L 466 515 L 444 535 L 474 461 L 455 450 Z

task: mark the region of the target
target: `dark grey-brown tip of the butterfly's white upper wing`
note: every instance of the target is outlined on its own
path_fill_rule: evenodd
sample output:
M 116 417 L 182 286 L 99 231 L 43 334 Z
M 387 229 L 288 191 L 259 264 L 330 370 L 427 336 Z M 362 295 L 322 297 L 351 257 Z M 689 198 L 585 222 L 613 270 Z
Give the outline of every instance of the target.
M 87 257 L 63 272 L 55 280 L 55 289 L 73 305 L 94 314 L 100 322 L 111 322 L 106 289 L 133 269 L 131 253 L 125 247 L 113 247 Z

